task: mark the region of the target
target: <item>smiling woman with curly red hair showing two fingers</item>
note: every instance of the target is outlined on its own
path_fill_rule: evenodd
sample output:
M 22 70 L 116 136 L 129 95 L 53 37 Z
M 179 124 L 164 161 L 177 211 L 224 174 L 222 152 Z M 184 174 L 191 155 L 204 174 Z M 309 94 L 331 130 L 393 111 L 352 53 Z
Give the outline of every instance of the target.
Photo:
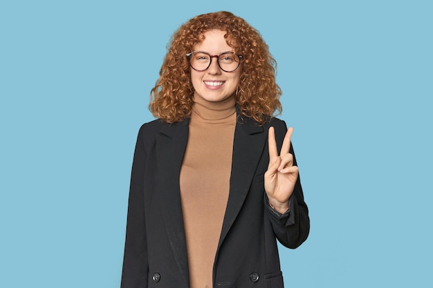
M 175 32 L 133 158 L 122 288 L 283 287 L 309 231 L 275 61 L 240 17 Z

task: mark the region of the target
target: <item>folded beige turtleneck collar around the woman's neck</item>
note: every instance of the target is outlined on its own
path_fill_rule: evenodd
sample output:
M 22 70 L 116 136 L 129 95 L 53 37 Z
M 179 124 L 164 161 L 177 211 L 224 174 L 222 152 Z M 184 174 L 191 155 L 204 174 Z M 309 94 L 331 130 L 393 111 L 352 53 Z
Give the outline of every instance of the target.
M 192 117 L 198 116 L 206 121 L 221 121 L 236 113 L 234 95 L 221 102 L 206 101 L 202 97 L 194 97 Z

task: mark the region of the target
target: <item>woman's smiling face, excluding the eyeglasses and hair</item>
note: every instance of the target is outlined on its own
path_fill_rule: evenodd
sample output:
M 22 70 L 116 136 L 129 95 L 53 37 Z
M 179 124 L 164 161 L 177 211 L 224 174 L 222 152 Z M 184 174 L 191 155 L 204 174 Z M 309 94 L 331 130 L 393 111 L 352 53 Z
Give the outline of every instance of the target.
M 233 51 L 224 38 L 225 32 L 210 30 L 205 32 L 205 39 L 194 46 L 194 51 L 205 51 L 210 55 L 220 55 L 222 52 Z M 212 57 L 212 63 L 204 71 L 191 69 L 191 81 L 194 86 L 194 98 L 201 97 L 208 102 L 221 102 L 234 97 L 242 67 L 239 66 L 233 72 L 225 72 L 219 68 L 216 57 Z

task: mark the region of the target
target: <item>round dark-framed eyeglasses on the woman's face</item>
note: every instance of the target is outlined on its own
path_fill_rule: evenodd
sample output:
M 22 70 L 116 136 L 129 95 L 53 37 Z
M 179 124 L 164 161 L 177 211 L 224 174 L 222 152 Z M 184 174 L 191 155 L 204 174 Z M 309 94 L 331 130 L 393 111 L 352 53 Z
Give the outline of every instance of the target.
M 219 68 L 225 72 L 233 72 L 243 60 L 243 56 L 230 51 L 222 52 L 220 55 L 210 55 L 208 52 L 194 51 L 187 53 L 186 56 L 188 61 L 190 61 L 191 68 L 196 71 L 208 69 L 213 57 L 216 57 L 216 63 L 218 63 Z

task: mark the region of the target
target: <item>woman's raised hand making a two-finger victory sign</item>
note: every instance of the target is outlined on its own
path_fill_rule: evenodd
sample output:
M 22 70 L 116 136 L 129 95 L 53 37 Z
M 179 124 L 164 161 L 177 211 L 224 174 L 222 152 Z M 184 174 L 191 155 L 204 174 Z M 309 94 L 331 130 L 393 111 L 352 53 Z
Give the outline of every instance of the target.
M 280 213 L 288 209 L 288 199 L 293 193 L 298 175 L 297 166 L 293 166 L 293 155 L 289 153 L 292 133 L 293 128 L 288 128 L 278 155 L 275 130 L 270 127 L 268 131 L 269 165 L 264 179 L 265 191 L 271 207 Z

